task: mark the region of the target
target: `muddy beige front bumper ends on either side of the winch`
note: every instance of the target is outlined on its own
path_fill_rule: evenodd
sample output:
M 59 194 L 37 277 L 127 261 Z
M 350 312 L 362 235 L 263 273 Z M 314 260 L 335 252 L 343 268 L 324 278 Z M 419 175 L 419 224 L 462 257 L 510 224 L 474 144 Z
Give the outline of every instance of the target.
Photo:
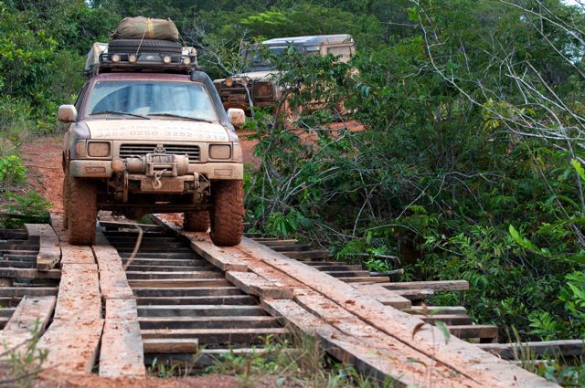
M 111 178 L 112 161 L 74 160 L 69 163 L 69 173 L 76 178 Z M 210 181 L 241 180 L 244 177 L 242 163 L 190 163 L 188 173 L 199 173 Z

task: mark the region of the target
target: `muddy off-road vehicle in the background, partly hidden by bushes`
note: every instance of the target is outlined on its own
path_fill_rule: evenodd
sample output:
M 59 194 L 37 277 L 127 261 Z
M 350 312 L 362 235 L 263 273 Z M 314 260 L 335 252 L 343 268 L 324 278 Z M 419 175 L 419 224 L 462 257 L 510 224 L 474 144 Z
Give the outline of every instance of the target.
M 262 46 L 280 55 L 291 45 L 304 55 L 333 55 L 347 62 L 356 52 L 354 39 L 349 35 L 321 35 L 313 37 L 278 37 L 265 40 Z M 223 106 L 250 112 L 250 102 L 255 107 L 269 107 L 280 99 L 276 85 L 276 73 L 270 61 L 263 58 L 259 46 L 252 46 L 241 53 L 248 68 L 244 72 L 213 81 Z

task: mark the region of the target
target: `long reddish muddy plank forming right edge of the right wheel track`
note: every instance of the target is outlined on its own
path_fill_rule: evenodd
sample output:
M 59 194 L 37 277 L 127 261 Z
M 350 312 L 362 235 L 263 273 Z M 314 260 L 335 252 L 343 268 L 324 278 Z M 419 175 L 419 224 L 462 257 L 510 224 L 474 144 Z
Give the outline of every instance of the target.
M 473 344 L 452 338 L 450 341 L 437 341 L 442 338 L 441 331 L 426 325 L 412 335 L 414 328 L 423 324 L 415 316 L 384 306 L 356 288 L 333 277 L 303 265 L 296 260 L 274 252 L 249 238 L 243 237 L 239 249 L 257 257 L 262 262 L 278 268 L 283 274 L 293 277 L 309 288 L 325 295 L 328 299 L 355 314 L 378 330 L 408 344 L 412 349 L 422 352 L 436 362 L 449 365 L 457 372 L 473 376 L 476 382 L 492 386 L 555 386 L 536 375 L 498 360 L 485 351 L 477 351 Z M 250 263 L 249 263 L 250 265 Z

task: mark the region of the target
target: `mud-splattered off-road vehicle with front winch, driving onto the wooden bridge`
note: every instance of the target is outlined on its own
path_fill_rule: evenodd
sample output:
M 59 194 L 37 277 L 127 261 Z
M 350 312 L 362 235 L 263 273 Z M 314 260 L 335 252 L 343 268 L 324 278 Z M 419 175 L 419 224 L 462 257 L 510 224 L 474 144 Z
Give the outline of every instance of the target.
M 115 44 L 112 44 L 115 43 Z M 239 244 L 243 165 L 232 124 L 195 50 L 176 42 L 96 44 L 90 79 L 62 105 L 63 184 L 69 242 L 94 241 L 99 210 L 138 218 L 184 212 L 184 228 L 218 246 Z

